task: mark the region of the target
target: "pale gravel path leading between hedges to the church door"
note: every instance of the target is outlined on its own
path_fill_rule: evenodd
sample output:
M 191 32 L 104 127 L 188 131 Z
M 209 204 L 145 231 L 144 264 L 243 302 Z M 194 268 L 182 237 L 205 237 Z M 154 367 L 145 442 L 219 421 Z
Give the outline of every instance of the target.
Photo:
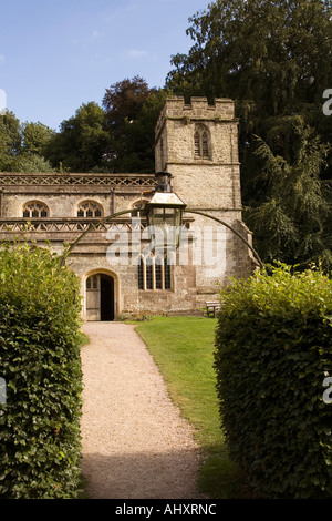
M 86 323 L 82 471 L 92 499 L 199 499 L 190 426 L 134 326 Z

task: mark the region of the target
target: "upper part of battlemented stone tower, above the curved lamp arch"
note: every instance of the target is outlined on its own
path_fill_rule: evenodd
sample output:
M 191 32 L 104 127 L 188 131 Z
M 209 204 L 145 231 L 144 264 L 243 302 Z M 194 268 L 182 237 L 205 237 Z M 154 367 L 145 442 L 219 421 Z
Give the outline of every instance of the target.
M 155 132 L 156 171 L 174 175 L 174 190 L 190 206 L 236 212 L 240 218 L 238 120 L 234 102 L 167 98 Z

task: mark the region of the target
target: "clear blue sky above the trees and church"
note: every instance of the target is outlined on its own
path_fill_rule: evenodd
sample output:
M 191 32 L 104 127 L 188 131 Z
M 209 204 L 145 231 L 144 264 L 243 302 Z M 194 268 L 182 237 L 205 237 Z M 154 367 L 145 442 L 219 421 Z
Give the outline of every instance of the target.
M 0 0 L 0 105 L 52 129 L 139 75 L 164 86 L 210 0 Z M 0 106 L 0 110 L 3 106 Z

